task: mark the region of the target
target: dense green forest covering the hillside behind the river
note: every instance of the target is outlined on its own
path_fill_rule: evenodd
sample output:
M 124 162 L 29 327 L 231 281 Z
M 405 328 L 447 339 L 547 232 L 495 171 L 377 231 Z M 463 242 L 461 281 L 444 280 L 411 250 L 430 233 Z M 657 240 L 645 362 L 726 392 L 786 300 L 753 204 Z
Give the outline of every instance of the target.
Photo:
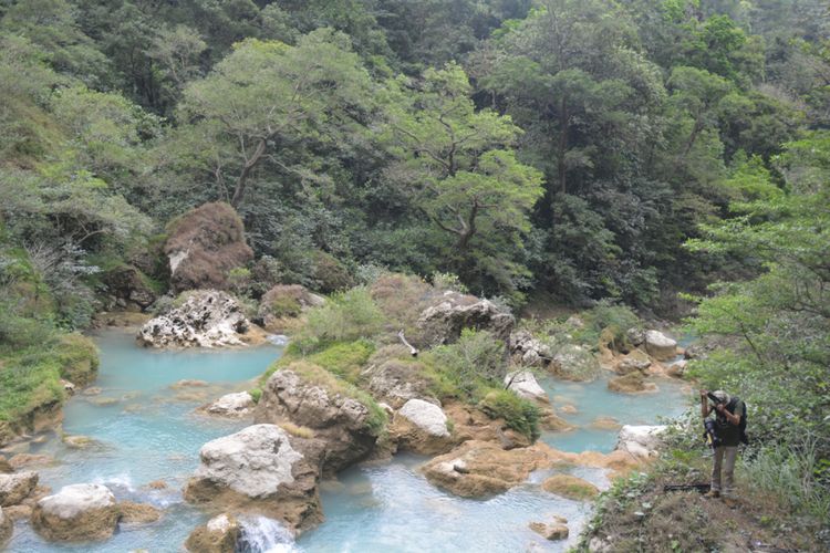
M 206 202 L 242 299 L 390 270 L 688 317 L 830 504 L 826 0 L 0 0 L 0 421 L 114 275 L 179 291 Z

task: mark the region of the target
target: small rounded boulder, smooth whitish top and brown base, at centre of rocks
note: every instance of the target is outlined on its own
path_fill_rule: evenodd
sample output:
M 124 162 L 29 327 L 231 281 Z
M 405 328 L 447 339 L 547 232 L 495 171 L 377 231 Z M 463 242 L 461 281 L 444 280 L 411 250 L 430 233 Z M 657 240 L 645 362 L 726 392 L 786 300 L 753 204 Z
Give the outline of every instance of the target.
M 409 399 L 395 414 L 392 424 L 393 439 L 398 448 L 422 455 L 443 453 L 452 449 L 453 435 L 447 428 L 449 419 L 435 404 Z

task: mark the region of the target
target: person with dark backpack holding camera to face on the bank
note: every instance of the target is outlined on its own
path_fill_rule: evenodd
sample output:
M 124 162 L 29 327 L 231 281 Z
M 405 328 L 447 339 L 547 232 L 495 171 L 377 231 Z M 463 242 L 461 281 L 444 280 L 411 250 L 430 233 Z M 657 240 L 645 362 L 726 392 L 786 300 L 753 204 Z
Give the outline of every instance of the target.
M 709 406 L 712 399 L 712 406 Z M 728 507 L 735 507 L 735 461 L 738 457 L 738 445 L 746 444 L 746 405 L 737 397 L 729 397 L 724 390 L 709 393 L 701 390 L 701 413 L 704 421 L 709 413 L 715 413 L 714 425 L 707 426 L 707 431 L 714 427 L 710 436 L 715 450 L 712 467 L 712 489 L 707 498 L 720 498 Z M 723 488 L 720 474 L 723 472 Z

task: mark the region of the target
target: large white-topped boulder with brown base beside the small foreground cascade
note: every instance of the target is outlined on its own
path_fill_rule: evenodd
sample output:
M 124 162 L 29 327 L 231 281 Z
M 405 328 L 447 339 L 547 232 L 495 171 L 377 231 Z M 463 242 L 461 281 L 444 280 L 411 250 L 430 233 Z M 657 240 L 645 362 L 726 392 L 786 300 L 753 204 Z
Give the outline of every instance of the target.
M 185 499 L 267 513 L 293 529 L 321 521 L 318 465 L 277 425 L 253 425 L 205 444 Z

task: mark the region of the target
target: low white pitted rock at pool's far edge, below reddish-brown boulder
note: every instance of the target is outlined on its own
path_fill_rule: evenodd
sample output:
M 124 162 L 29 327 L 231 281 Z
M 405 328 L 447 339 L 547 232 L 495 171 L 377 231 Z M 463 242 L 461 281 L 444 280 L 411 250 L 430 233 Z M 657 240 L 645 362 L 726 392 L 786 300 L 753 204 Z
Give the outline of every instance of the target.
M 185 303 L 148 321 L 138 342 L 153 347 L 214 347 L 245 345 L 250 323 L 237 301 L 225 292 L 194 292 Z

